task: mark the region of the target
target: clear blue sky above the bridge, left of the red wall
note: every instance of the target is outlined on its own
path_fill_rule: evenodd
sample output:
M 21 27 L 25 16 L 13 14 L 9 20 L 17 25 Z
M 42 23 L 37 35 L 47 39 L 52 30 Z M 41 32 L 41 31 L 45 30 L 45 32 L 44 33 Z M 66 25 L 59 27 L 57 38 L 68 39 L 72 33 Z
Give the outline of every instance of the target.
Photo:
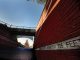
M 0 20 L 16 26 L 36 27 L 44 5 L 26 0 L 0 0 Z

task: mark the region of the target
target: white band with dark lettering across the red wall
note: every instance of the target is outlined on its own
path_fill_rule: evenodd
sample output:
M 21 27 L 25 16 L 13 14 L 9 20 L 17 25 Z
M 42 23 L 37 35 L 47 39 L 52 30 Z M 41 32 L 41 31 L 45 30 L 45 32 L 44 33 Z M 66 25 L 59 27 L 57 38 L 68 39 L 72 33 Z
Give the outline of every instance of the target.
M 65 49 L 79 49 L 80 36 L 74 37 L 59 43 L 37 48 L 36 50 L 65 50 Z

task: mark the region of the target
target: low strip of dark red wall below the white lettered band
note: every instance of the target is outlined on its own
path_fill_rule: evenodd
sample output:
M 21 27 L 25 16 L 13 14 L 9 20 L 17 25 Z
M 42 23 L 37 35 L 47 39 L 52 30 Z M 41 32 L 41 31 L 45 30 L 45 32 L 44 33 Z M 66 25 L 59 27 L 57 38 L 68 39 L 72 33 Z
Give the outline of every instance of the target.
M 37 60 L 80 60 L 79 50 L 54 50 L 36 52 Z

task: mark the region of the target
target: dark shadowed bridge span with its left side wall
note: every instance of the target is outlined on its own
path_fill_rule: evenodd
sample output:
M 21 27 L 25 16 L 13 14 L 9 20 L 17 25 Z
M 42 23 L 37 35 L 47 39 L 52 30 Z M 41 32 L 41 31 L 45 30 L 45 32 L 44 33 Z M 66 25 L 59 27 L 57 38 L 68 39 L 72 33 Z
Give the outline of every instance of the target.
M 0 24 L 0 47 L 17 47 L 17 35 L 35 36 L 35 29 L 10 28 Z

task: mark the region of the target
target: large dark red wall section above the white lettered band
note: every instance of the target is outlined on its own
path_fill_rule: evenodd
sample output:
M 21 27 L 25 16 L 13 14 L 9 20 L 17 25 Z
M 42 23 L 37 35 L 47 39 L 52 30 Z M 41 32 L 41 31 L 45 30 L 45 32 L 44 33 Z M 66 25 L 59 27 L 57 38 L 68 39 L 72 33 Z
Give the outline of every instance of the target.
M 80 35 L 80 10 L 77 0 L 61 0 L 36 32 L 35 47 L 57 43 Z

